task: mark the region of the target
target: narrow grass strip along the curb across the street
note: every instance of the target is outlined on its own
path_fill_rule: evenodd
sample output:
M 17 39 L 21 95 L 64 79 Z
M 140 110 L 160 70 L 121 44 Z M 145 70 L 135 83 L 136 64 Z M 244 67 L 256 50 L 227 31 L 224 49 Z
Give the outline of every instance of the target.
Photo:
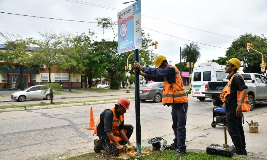
M 127 99 L 134 99 L 134 97 L 126 97 Z M 34 106 L 44 106 L 44 105 L 60 105 L 60 104 L 71 104 L 71 103 L 85 103 L 85 102 L 99 102 L 99 101 L 109 101 L 109 100 L 118 100 L 120 98 L 112 98 L 112 99 L 104 99 L 104 100 L 82 100 L 82 101 L 70 101 L 70 102 L 53 102 L 53 104 L 50 103 L 36 103 L 36 104 L 25 104 L 25 105 L 4 105 L 0 106 L 0 109 L 5 108 L 26 108 L 26 107 L 34 107 Z

